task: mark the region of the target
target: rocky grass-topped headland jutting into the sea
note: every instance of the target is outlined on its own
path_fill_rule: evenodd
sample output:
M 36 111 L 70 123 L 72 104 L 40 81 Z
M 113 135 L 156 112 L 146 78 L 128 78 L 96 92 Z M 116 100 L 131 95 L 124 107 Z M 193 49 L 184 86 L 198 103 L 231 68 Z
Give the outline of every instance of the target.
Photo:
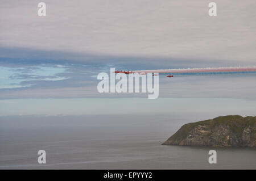
M 256 116 L 220 116 L 188 123 L 163 145 L 256 147 Z

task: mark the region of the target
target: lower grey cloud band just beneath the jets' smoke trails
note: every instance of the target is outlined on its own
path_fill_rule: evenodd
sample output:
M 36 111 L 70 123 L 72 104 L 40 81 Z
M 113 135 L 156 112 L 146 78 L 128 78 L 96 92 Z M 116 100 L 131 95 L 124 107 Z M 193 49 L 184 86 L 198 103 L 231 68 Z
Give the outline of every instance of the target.
M 255 74 L 205 75 L 166 78 L 160 75 L 159 98 L 236 98 L 256 100 Z M 235 81 L 234 81 L 235 79 Z M 0 99 L 19 98 L 144 98 L 148 93 L 102 93 L 97 91 L 96 78 L 73 85 L 39 86 L 0 91 Z M 73 82 L 71 81 L 71 82 Z M 59 81 L 57 81 L 59 82 Z M 67 80 L 69 82 L 69 80 Z

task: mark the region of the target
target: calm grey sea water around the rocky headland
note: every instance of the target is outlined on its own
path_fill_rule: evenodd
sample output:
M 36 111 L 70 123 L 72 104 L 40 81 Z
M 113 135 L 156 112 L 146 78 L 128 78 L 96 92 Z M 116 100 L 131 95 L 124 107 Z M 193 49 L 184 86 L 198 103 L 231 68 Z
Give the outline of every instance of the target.
M 256 169 L 255 149 L 214 148 L 209 164 L 213 148 L 161 145 L 193 118 L 157 117 L 1 117 L 0 169 Z M 46 164 L 37 162 L 41 149 Z

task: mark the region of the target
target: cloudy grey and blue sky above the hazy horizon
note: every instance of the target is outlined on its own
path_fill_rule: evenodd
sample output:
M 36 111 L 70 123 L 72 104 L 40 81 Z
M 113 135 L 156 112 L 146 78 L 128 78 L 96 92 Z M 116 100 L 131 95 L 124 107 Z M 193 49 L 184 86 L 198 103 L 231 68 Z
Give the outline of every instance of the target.
M 253 113 L 255 73 L 162 76 L 152 102 L 100 94 L 97 74 L 256 66 L 255 1 L 214 1 L 214 17 L 202 0 L 43 2 L 46 16 L 37 1 L 0 2 L 0 116 L 168 113 L 170 104 L 180 112 L 191 103 L 197 112 L 216 101 Z

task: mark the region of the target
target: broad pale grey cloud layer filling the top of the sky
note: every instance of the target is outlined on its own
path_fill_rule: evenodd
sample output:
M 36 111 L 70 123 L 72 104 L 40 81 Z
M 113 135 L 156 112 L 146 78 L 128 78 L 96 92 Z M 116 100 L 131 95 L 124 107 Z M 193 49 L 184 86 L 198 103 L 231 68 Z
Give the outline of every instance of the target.
M 109 56 L 255 62 L 255 2 L 1 1 L 1 47 Z

